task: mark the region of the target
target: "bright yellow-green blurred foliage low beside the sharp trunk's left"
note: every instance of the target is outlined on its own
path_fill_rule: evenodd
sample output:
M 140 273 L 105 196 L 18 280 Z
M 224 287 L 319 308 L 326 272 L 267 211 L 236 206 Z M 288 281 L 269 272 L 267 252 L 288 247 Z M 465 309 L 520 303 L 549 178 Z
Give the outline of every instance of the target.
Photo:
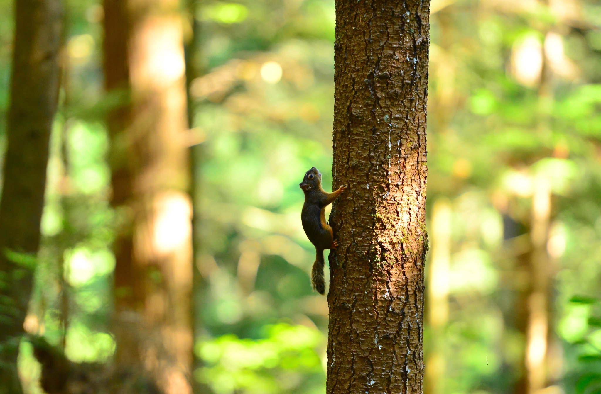
M 263 331 L 264 339 L 230 334 L 199 342 L 196 352 L 207 366 L 195 371 L 195 376 L 218 394 L 320 391 L 319 331 L 285 323 L 265 326 Z

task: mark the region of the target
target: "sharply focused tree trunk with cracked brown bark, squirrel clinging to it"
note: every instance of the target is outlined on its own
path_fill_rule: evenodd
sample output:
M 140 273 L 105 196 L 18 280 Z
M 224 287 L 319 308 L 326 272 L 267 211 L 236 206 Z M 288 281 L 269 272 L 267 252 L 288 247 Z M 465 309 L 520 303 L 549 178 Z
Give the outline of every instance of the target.
M 336 1 L 332 393 L 421 393 L 429 1 Z

